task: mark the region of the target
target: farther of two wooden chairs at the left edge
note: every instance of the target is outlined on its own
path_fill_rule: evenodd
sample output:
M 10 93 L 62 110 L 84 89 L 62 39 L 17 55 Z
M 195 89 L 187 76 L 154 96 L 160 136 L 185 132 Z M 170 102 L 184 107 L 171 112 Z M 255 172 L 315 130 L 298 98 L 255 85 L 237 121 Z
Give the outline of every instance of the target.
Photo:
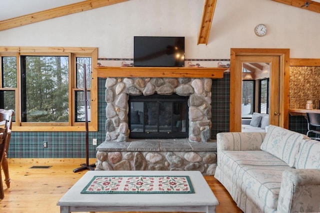
M 4 182 L 6 184 L 6 187 L 10 188 L 10 176 L 9 176 L 7 153 L 9 150 L 11 129 L 12 129 L 12 116 L 14 116 L 14 111 L 11 109 L 10 110 L 0 109 L 0 114 L 8 114 L 9 115 L 9 122 L 7 122 L 7 124 L 6 124 L 7 136 L 6 136 L 6 144 L 5 144 L 5 148 L 4 148 L 4 154 L 3 154 L 1 166 L 2 166 L 3 173 L 4 173 Z

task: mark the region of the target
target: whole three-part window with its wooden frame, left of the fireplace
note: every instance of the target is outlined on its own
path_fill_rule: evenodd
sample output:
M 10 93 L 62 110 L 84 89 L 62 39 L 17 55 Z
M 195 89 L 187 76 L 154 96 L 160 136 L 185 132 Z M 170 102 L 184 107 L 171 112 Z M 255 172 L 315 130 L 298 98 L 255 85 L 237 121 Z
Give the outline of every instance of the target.
M 83 131 L 86 101 L 96 131 L 96 57 L 97 48 L 0 47 L 0 108 L 14 109 L 13 130 Z

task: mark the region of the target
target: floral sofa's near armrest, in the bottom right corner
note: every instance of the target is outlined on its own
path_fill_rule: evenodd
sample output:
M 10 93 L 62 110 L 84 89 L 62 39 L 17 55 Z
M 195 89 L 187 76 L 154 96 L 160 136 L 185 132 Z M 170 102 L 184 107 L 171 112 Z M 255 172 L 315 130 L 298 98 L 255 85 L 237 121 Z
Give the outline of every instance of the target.
M 277 212 L 320 212 L 320 170 L 289 169 L 282 173 Z

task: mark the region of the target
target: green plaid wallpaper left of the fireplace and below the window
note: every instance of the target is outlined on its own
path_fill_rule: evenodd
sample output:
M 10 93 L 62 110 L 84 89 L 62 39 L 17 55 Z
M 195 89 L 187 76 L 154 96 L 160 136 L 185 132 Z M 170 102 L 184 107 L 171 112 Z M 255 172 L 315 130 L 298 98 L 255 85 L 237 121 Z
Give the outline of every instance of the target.
M 105 79 L 98 78 L 98 132 L 89 132 L 89 158 L 95 158 L 98 145 L 105 140 Z M 48 148 L 43 148 L 43 141 Z M 85 132 L 12 132 L 8 158 L 85 158 Z

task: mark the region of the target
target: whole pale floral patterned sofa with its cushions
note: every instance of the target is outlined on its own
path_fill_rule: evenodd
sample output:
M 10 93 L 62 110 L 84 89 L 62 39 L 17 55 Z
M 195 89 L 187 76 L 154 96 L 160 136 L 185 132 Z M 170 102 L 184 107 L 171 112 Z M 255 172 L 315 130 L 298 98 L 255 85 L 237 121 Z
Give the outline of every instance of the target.
M 296 132 L 218 133 L 214 177 L 244 213 L 320 212 L 320 142 Z

